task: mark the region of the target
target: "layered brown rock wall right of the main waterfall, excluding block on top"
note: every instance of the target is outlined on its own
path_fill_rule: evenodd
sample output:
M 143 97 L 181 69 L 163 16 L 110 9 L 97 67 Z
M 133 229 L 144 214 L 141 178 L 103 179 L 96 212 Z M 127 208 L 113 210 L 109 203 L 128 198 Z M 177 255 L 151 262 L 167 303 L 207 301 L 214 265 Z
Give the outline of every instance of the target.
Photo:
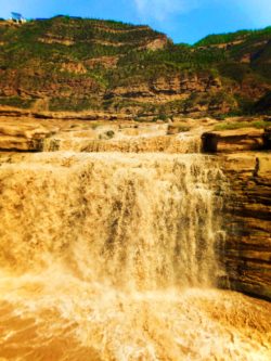
M 271 300 L 271 154 L 223 157 L 225 267 L 233 289 Z

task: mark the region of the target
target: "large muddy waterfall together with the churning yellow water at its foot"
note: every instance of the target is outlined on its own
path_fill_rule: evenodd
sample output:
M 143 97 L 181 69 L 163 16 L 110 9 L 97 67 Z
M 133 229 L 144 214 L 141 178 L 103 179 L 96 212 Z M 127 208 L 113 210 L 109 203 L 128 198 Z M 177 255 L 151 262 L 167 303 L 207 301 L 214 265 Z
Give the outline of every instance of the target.
M 0 360 L 271 359 L 271 305 L 216 288 L 227 180 L 201 154 L 0 163 Z

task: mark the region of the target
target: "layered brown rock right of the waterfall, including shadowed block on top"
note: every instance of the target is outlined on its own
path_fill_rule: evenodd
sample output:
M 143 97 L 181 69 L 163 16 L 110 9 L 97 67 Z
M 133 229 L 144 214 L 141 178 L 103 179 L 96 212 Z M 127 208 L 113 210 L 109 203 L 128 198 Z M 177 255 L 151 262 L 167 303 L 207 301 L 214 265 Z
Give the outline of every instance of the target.
M 233 289 L 271 299 L 270 129 L 210 131 L 203 151 L 216 153 L 229 182 L 225 194 L 225 247 Z

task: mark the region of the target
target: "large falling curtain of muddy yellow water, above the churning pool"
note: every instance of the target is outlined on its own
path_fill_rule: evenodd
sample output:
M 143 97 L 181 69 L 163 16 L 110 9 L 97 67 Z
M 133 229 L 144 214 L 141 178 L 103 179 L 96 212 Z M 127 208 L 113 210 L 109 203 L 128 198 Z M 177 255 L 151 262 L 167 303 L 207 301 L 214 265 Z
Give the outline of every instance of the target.
M 223 176 L 208 156 L 41 154 L 0 182 L 2 265 L 42 252 L 119 287 L 216 284 Z

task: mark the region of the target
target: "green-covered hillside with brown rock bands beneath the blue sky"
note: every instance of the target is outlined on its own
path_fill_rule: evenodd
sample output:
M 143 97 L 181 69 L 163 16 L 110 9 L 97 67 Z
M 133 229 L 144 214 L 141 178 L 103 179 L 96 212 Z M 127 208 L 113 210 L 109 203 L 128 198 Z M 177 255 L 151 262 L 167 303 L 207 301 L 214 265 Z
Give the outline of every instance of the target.
M 173 44 L 149 26 L 0 21 L 0 105 L 140 119 L 270 112 L 271 28 Z

